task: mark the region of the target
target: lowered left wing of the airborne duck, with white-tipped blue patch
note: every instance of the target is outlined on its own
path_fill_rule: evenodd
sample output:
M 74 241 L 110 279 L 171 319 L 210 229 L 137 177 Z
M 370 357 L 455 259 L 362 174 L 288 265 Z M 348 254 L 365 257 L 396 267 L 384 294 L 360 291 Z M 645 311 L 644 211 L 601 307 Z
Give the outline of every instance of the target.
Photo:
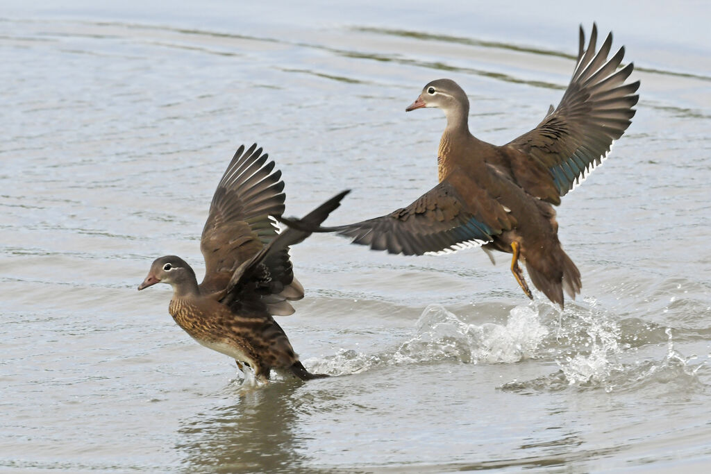
M 330 227 L 354 244 L 391 254 L 422 255 L 477 247 L 501 233 L 498 222 L 466 210 L 454 187 L 439 183 L 407 208 L 383 217 Z

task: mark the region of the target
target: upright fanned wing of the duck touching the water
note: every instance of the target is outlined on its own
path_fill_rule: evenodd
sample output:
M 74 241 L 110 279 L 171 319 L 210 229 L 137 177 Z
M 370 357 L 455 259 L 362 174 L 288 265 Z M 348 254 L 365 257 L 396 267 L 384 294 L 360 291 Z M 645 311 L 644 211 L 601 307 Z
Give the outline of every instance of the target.
M 246 151 L 240 146 L 215 190 L 200 245 L 205 257 L 203 293 L 225 291 L 235 269 L 279 235 L 275 217 L 284 212 L 284 181 L 268 158 L 256 144 Z M 288 249 L 267 264 L 274 279 L 274 294 L 267 301 L 270 311 L 293 313 L 286 300 L 302 298 L 304 289 L 294 279 Z

